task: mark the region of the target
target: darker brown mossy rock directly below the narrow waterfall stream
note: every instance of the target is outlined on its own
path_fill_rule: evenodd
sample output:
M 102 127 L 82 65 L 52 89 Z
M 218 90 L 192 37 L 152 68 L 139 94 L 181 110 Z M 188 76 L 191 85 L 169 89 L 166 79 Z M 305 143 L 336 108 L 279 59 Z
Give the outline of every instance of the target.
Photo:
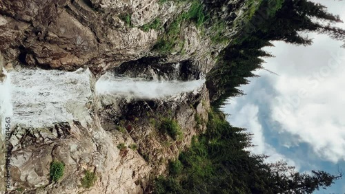
M 139 153 L 151 166 L 153 174 L 166 171 L 169 160 L 189 147 L 193 136 L 206 131 L 210 109 L 206 87 L 196 94 L 183 94 L 165 100 L 140 100 L 132 103 L 107 103 L 99 110 L 101 125 L 106 131 L 126 129 L 124 136 L 134 140 Z M 199 117 L 199 122 L 195 119 Z M 161 118 L 172 118 L 181 127 L 183 138 L 173 140 L 159 131 Z

